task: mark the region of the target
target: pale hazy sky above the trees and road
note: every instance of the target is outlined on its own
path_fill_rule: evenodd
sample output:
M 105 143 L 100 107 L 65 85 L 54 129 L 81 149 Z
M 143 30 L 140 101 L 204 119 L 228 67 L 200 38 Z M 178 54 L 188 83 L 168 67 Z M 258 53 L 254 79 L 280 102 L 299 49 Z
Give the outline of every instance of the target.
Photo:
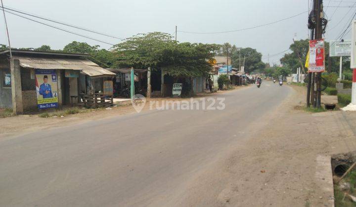
M 339 1 L 331 0 L 329 6 L 338 6 Z M 308 0 L 3 0 L 4 6 L 122 38 L 155 31 L 174 34 L 176 25 L 178 31 L 189 32 L 220 32 L 249 28 L 308 11 L 308 2 Z M 356 0 L 344 0 L 341 6 L 349 6 L 355 2 Z M 328 0 L 324 0 L 324 6 L 328 3 Z M 327 8 L 326 14 L 329 18 L 335 9 Z M 348 13 L 349 10 L 351 12 Z M 356 8 L 338 8 L 328 25 L 329 29 L 336 27 L 328 32 L 325 38 L 327 40 L 336 38 L 355 10 Z M 177 36 L 180 42 L 229 42 L 238 47 L 256 48 L 264 55 L 263 61 L 267 62 L 267 54 L 272 56 L 288 49 L 295 34 L 297 39 L 308 37 L 307 15 L 304 13 L 283 22 L 248 31 L 204 35 L 178 32 Z M 52 49 L 61 49 L 74 40 L 98 44 L 107 49 L 111 47 L 12 14 L 6 13 L 6 17 L 12 47 L 36 48 L 46 44 Z M 6 44 L 2 13 L 0 19 L 2 20 L 0 43 Z M 48 24 L 113 44 L 120 41 L 54 23 Z M 350 34 L 344 38 L 350 38 Z M 283 54 L 270 57 L 269 62 L 277 63 L 282 56 Z

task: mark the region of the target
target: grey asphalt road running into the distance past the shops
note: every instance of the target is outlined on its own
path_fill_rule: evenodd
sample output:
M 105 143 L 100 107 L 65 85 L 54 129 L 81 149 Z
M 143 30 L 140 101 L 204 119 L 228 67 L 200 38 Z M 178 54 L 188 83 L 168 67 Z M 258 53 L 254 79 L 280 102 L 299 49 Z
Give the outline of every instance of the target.
M 0 140 L 0 206 L 178 206 L 291 92 L 265 81 L 215 96 L 223 110 L 145 111 Z

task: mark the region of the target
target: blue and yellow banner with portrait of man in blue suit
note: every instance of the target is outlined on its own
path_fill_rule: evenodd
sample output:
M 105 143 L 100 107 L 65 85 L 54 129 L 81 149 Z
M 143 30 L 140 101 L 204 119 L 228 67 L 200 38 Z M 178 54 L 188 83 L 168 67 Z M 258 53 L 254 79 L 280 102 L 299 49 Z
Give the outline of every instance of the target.
M 38 108 L 58 107 L 56 71 L 54 69 L 36 69 L 35 74 Z

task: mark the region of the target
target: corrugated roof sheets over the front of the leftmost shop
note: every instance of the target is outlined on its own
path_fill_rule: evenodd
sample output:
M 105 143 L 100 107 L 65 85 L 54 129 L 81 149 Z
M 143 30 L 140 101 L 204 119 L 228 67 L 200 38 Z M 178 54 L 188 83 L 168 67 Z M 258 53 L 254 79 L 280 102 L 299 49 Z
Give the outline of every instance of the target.
M 20 60 L 20 66 L 23 68 L 82 70 L 83 73 L 89 76 L 115 75 L 115 73 L 103 69 L 87 59 L 35 58 L 23 56 L 13 56 L 13 59 Z

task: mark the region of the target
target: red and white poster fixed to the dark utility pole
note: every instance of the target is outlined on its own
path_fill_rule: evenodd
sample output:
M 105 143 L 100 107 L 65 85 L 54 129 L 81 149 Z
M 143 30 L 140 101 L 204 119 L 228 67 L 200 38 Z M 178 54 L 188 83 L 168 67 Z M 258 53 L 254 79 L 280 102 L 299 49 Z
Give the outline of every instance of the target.
M 324 71 L 325 71 L 324 39 L 310 40 L 308 72 L 324 72 Z

